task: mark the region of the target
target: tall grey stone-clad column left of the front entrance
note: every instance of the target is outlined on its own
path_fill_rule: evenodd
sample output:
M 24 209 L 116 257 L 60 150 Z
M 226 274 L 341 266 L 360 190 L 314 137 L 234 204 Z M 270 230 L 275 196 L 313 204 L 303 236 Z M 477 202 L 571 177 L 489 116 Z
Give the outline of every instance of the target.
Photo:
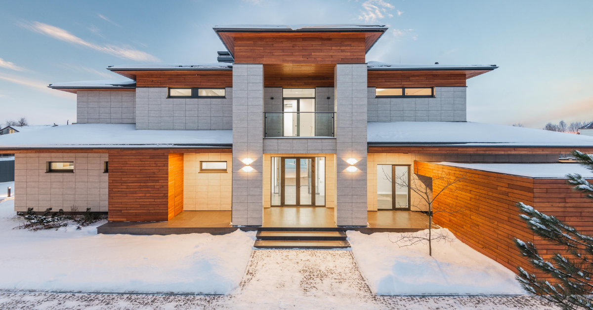
M 253 161 L 246 171 L 244 161 Z M 263 223 L 263 65 L 232 68 L 232 224 Z

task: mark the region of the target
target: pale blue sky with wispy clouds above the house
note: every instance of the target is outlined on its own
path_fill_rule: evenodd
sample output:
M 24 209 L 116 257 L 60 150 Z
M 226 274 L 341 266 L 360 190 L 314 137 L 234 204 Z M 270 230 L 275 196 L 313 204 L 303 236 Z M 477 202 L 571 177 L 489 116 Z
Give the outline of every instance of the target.
M 215 62 L 224 24 L 385 24 L 366 60 L 498 65 L 471 78 L 467 119 L 540 128 L 593 120 L 593 1 L 1 1 L 0 122 L 76 118 L 50 83 L 133 63 Z

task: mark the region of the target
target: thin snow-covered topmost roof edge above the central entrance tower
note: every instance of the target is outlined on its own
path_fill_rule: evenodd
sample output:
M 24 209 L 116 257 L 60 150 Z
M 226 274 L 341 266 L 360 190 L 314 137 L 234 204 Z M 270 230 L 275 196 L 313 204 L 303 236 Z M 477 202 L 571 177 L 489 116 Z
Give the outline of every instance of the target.
M 294 25 L 218 25 L 215 31 L 385 31 L 385 25 L 349 25 L 349 24 L 294 24 Z

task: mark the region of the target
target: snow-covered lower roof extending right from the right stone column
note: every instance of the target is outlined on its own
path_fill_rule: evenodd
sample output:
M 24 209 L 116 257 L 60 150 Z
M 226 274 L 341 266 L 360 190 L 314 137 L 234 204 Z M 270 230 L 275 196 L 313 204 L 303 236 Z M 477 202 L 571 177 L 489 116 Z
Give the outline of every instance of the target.
M 593 136 L 474 122 L 368 123 L 369 145 L 589 146 Z

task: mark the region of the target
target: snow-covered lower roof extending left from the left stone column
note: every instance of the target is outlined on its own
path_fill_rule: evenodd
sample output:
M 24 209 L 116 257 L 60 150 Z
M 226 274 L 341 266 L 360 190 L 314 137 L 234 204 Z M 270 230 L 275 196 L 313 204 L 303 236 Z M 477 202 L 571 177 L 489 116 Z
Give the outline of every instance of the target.
M 0 149 L 190 148 L 231 144 L 232 130 L 136 130 L 135 124 L 72 124 L 0 136 Z

